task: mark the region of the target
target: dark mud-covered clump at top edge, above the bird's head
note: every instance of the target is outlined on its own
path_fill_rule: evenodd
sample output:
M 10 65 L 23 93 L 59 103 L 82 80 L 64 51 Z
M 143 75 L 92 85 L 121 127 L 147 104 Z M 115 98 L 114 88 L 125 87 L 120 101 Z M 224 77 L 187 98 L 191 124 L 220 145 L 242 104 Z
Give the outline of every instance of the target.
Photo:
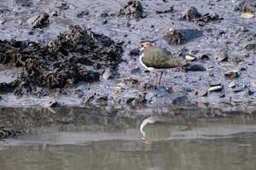
M 119 11 L 119 16 L 120 15 L 131 16 L 136 19 L 146 17 L 143 10 L 143 4 L 137 0 L 131 0 L 126 3 L 125 6 Z

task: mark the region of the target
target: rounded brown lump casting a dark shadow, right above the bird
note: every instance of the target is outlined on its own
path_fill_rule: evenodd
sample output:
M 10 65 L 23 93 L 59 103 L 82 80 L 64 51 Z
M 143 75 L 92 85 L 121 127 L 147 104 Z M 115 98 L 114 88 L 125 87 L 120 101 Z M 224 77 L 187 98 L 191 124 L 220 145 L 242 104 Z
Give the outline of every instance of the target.
M 179 45 L 182 44 L 182 41 L 184 39 L 183 33 L 181 31 L 174 30 L 170 28 L 168 31 L 164 34 L 164 39 L 166 42 L 168 42 L 170 45 Z

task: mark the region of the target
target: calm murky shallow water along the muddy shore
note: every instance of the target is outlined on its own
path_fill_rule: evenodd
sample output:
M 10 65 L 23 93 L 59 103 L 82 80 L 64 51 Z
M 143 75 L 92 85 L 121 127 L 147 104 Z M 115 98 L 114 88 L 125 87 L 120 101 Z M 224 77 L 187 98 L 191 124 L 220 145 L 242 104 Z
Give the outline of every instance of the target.
M 256 167 L 254 115 L 154 116 L 157 121 L 143 127 L 150 140 L 144 144 L 139 127 L 150 115 L 124 117 L 120 111 L 112 111 L 110 118 L 109 113 L 89 109 L 61 109 L 53 114 L 27 108 L 2 109 L 1 113 L 9 112 L 10 122 L 15 120 L 19 127 L 19 118 L 13 118 L 18 112 L 35 116 L 36 111 L 52 122 L 44 122 L 46 116 L 31 117 L 34 121 L 25 123 L 29 133 L 0 141 L 1 170 Z

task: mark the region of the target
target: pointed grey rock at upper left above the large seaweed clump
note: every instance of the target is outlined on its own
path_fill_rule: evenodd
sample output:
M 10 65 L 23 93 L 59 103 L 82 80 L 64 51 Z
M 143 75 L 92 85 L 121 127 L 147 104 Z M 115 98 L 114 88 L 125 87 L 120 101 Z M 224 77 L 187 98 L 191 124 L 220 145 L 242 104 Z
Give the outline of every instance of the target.
M 39 14 L 26 21 L 32 28 L 43 28 L 49 24 L 49 14 Z

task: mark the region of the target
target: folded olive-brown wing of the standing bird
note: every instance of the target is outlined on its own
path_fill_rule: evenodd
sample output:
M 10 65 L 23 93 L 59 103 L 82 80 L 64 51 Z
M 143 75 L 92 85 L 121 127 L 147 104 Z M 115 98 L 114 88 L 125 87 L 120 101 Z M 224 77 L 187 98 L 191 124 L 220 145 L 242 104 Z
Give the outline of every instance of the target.
M 144 65 L 154 67 L 156 69 L 175 68 L 186 65 L 185 62 L 180 59 L 173 58 L 165 50 L 155 47 L 145 50 L 142 60 Z

